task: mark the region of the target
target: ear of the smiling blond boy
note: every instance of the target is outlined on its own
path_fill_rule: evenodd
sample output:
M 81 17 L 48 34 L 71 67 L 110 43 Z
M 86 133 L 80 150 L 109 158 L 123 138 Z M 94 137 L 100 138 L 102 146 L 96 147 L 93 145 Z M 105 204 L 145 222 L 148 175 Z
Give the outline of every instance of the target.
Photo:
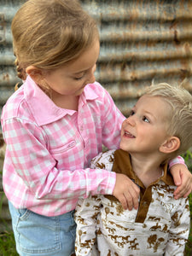
M 180 147 L 180 140 L 178 137 L 170 137 L 166 142 L 160 145 L 160 152 L 169 154 L 176 151 Z

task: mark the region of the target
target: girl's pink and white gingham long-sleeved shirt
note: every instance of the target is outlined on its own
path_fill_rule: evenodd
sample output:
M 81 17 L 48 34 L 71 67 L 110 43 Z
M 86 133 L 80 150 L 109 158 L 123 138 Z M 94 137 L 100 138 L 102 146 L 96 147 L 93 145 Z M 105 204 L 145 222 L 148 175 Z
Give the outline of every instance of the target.
M 3 108 L 7 144 L 3 189 L 16 208 L 56 216 L 76 207 L 79 197 L 112 194 L 114 172 L 90 169 L 90 160 L 119 147 L 125 117 L 98 83 L 79 97 L 79 111 L 55 106 L 28 76 Z

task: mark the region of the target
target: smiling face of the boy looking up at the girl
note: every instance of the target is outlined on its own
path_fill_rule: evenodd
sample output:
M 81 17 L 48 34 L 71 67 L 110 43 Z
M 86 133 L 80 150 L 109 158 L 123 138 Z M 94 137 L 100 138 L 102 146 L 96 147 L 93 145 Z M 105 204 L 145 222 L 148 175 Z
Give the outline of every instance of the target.
M 159 96 L 142 96 L 122 124 L 120 148 L 144 156 L 159 152 L 168 137 L 169 108 Z

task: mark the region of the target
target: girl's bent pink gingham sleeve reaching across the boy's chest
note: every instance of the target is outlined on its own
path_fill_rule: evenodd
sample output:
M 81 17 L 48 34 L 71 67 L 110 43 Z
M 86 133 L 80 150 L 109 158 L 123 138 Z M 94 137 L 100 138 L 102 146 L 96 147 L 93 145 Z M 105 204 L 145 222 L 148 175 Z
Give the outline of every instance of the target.
M 56 160 L 49 154 L 46 134 L 38 125 L 19 118 L 6 119 L 3 136 L 9 159 L 7 167 L 14 168 L 37 199 L 68 200 L 87 197 L 92 192 L 113 193 L 116 180 L 113 172 L 90 168 L 58 170 Z

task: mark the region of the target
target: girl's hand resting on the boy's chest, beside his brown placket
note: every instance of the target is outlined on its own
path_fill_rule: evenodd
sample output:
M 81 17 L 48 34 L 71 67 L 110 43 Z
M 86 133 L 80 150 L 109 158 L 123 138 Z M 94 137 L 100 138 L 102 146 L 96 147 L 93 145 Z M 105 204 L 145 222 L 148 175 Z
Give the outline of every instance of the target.
M 124 174 L 116 174 L 116 183 L 113 189 L 113 195 L 119 200 L 122 207 L 126 210 L 138 208 L 138 198 L 140 189 L 137 184 L 133 183 L 129 177 Z

